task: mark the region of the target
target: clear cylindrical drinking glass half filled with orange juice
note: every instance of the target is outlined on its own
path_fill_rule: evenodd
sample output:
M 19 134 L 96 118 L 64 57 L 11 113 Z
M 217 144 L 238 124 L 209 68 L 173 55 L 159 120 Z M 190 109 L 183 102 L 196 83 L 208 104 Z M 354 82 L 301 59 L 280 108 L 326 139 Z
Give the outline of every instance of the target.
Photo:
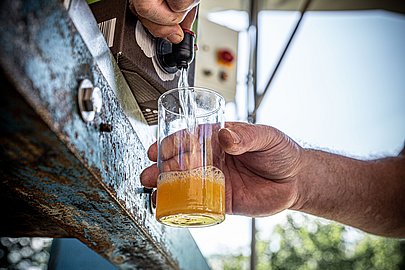
M 156 218 L 161 223 L 203 227 L 225 219 L 225 154 L 218 144 L 224 105 L 222 96 L 198 87 L 173 89 L 159 98 Z

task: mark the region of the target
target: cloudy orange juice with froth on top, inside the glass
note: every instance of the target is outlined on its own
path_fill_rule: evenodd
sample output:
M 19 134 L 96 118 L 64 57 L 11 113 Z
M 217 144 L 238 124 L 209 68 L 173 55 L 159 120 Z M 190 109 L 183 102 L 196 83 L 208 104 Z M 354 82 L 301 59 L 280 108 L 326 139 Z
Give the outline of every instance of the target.
M 225 218 L 225 177 L 214 166 L 161 173 L 156 218 L 177 227 L 203 227 Z

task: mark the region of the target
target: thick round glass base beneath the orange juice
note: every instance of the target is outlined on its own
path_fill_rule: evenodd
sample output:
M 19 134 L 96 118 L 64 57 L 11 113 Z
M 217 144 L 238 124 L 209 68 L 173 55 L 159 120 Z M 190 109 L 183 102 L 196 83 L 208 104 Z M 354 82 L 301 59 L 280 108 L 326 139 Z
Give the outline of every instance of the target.
M 159 222 L 172 227 L 198 228 L 219 224 L 224 221 L 225 215 L 212 213 L 176 214 L 159 218 Z

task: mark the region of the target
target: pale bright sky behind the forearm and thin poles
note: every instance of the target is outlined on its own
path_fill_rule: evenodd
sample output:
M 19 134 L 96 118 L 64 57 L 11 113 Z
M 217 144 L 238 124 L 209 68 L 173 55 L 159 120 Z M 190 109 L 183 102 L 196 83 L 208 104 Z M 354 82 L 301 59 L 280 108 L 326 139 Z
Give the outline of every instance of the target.
M 235 17 L 237 19 L 235 19 Z M 210 19 L 243 30 L 247 15 L 222 12 Z M 259 16 L 258 88 L 263 89 L 296 12 Z M 405 16 L 385 11 L 307 12 L 257 123 L 272 125 L 304 147 L 361 159 L 397 155 L 405 142 Z M 246 119 L 244 100 L 248 43 L 240 33 L 236 106 L 227 120 Z M 285 221 L 286 212 L 257 220 L 260 235 Z M 205 256 L 249 254 L 250 219 L 190 230 Z

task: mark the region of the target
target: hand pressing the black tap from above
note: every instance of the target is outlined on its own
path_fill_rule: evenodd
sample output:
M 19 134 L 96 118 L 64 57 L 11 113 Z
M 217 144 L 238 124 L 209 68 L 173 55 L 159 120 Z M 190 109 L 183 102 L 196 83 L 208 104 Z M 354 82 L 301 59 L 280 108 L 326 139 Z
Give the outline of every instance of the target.
M 172 43 L 183 40 L 182 29 L 191 29 L 199 0 L 130 0 L 129 8 L 155 37 Z

